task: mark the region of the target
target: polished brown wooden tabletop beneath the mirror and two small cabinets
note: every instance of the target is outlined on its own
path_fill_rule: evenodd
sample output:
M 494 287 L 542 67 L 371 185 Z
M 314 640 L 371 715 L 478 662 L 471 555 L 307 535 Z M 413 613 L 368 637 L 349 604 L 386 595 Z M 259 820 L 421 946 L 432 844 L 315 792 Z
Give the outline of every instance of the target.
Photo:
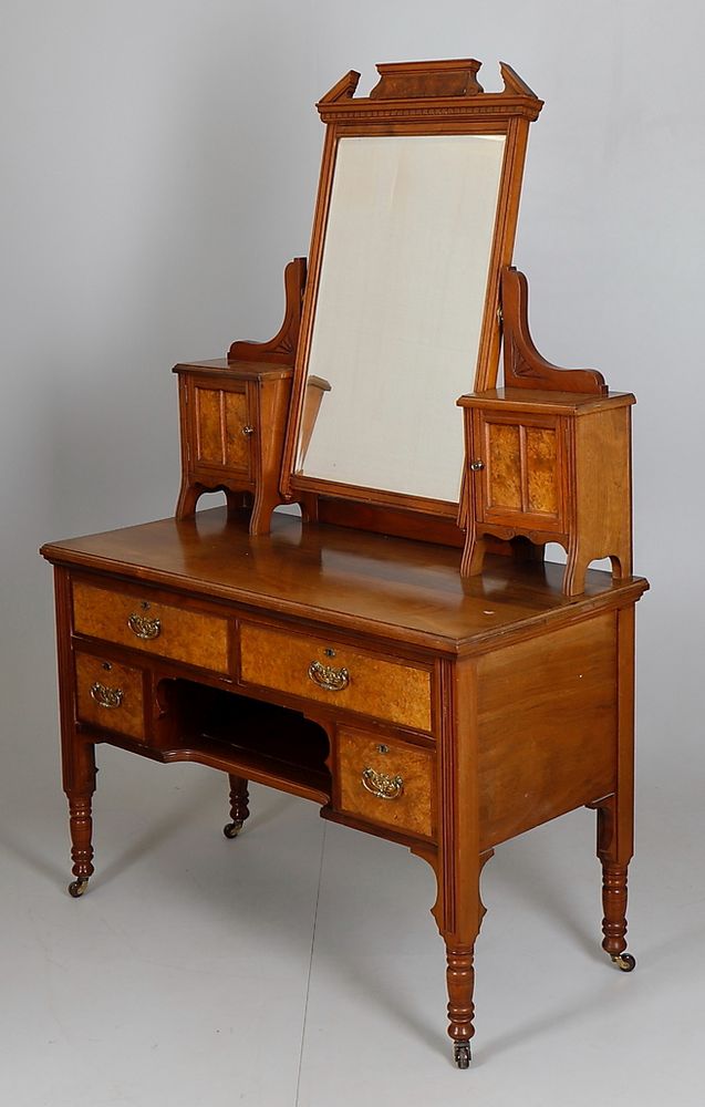
M 247 518 L 225 508 L 53 542 L 54 563 L 176 588 L 443 652 L 491 648 L 540 633 L 591 610 L 621 607 L 649 587 L 589 571 L 585 592 L 561 592 L 563 567 L 488 557 L 462 578 L 460 551 L 345 527 L 302 524 L 274 513 L 271 535 L 250 537 Z

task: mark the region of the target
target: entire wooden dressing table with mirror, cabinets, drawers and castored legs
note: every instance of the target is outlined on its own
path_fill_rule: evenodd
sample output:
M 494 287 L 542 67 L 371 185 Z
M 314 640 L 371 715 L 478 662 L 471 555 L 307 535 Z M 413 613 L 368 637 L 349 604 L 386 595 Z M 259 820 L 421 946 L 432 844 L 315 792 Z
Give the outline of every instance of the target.
M 605 395 L 593 371 L 557 375 L 528 340 L 526 298 L 507 275 L 542 105 L 507 65 L 504 90 L 484 92 L 478 69 L 380 65 L 369 96 L 350 73 L 322 99 L 308 271 L 303 259 L 287 269 L 281 331 L 176 366 L 176 517 L 42 548 L 55 572 L 71 894 L 94 872 L 102 743 L 226 773 L 228 838 L 248 819 L 250 780 L 313 800 L 433 868 L 460 1068 L 480 872 L 502 841 L 594 808 L 602 945 L 634 968 L 634 607 L 647 588 L 631 571 L 629 449 L 610 458 L 611 494 L 625 497 L 613 576 L 587 568 L 615 554 L 599 542 L 581 547 L 568 584 L 543 559 L 547 540 L 568 545 L 587 526 L 571 506 L 585 482 L 600 495 L 568 431 L 549 457 L 563 529 L 537 524 L 550 514 L 542 500 L 529 524 L 521 503 L 495 519 L 477 511 L 456 402 L 474 384 L 465 414 L 489 403 L 502 423 L 502 397 L 488 397 L 502 339 L 505 372 L 527 389 L 512 401 L 522 426 L 546 430 L 551 392 L 553 420 L 601 404 L 628 420 L 633 400 Z M 539 451 L 527 468 L 522 433 L 517 472 L 538 472 L 531 487 L 543 488 L 548 463 Z M 493 449 L 487 487 L 514 487 Z M 214 488 L 226 505 L 197 511 Z M 277 504 L 300 505 L 301 518 L 272 515 Z

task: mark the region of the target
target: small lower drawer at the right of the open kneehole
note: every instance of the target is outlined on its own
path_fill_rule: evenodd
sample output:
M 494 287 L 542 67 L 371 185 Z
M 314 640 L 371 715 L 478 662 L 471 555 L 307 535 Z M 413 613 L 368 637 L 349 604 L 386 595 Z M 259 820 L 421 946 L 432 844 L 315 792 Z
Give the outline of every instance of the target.
M 338 732 L 340 807 L 370 823 L 433 838 L 432 749 L 360 731 Z

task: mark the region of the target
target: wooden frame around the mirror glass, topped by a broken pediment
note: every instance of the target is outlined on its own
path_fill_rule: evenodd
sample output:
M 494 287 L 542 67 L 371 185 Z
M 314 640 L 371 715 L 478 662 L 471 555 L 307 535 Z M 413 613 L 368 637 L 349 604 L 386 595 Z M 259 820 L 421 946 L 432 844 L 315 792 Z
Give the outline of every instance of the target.
M 335 156 L 341 137 L 466 134 L 505 137 L 474 389 L 478 391 L 496 384 L 501 340 L 500 273 L 511 263 L 529 123 L 538 117 L 543 104 L 504 62 L 500 63 L 504 90 L 499 93 L 484 92 L 477 81 L 480 64 L 473 59 L 381 64 L 376 66 L 379 83 L 367 97 L 357 99 L 354 93 L 360 74 L 352 70 L 317 104 L 325 124 L 325 138 L 281 478 L 284 498 L 301 503 L 310 518 L 350 521 L 354 526 L 409 537 L 428 535 L 432 539 L 452 541 L 453 545 L 462 540 L 455 503 L 339 484 L 297 474 L 294 468 Z M 350 500 L 356 501 L 357 510 L 353 509 Z M 435 529 L 434 520 L 437 524 Z

